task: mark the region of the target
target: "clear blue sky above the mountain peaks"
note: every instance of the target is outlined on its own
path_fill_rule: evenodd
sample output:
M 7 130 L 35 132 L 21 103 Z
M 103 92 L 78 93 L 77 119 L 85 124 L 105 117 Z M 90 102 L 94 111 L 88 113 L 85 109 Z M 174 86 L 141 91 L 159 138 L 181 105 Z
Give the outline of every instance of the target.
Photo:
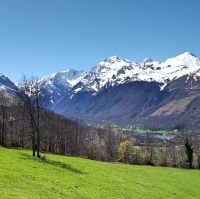
M 0 72 L 11 80 L 185 51 L 200 57 L 199 0 L 0 0 Z

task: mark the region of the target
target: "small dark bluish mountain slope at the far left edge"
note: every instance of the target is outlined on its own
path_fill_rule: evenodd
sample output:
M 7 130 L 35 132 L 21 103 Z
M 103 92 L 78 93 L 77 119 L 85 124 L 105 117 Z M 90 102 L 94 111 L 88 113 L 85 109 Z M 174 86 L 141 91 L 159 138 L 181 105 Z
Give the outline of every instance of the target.
M 19 88 L 2 73 L 0 73 L 0 91 L 15 95 Z

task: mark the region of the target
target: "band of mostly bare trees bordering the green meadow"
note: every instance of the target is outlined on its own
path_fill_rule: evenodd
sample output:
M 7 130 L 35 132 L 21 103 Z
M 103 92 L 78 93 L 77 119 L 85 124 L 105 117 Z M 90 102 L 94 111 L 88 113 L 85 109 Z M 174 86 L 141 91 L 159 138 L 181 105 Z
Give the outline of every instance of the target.
M 179 136 L 158 140 L 147 133 L 139 136 L 110 125 L 88 126 L 42 108 L 45 100 L 35 78 L 23 77 L 17 96 L 0 94 L 0 145 L 84 158 L 200 169 L 200 137 L 188 133 L 187 125 Z M 141 144 L 143 143 L 143 144 Z

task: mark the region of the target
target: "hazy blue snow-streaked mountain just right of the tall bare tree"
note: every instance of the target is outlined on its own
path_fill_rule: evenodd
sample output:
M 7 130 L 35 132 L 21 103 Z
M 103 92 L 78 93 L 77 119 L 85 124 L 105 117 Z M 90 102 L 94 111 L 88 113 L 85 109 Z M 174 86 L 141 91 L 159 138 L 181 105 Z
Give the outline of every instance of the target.
M 38 83 L 44 91 L 45 107 L 66 95 L 86 74 L 85 71 L 70 69 L 40 79 Z

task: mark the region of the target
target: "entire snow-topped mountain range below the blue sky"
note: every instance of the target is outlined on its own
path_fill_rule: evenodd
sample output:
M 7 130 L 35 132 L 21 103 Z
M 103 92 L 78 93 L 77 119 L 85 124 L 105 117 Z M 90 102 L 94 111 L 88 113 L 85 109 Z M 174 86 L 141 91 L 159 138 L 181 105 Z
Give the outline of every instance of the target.
M 17 90 L 3 81 L 0 89 Z M 112 56 L 89 73 L 66 70 L 39 80 L 44 108 L 90 124 L 115 123 L 154 129 L 198 126 L 200 59 L 185 52 L 165 62 L 141 63 Z

